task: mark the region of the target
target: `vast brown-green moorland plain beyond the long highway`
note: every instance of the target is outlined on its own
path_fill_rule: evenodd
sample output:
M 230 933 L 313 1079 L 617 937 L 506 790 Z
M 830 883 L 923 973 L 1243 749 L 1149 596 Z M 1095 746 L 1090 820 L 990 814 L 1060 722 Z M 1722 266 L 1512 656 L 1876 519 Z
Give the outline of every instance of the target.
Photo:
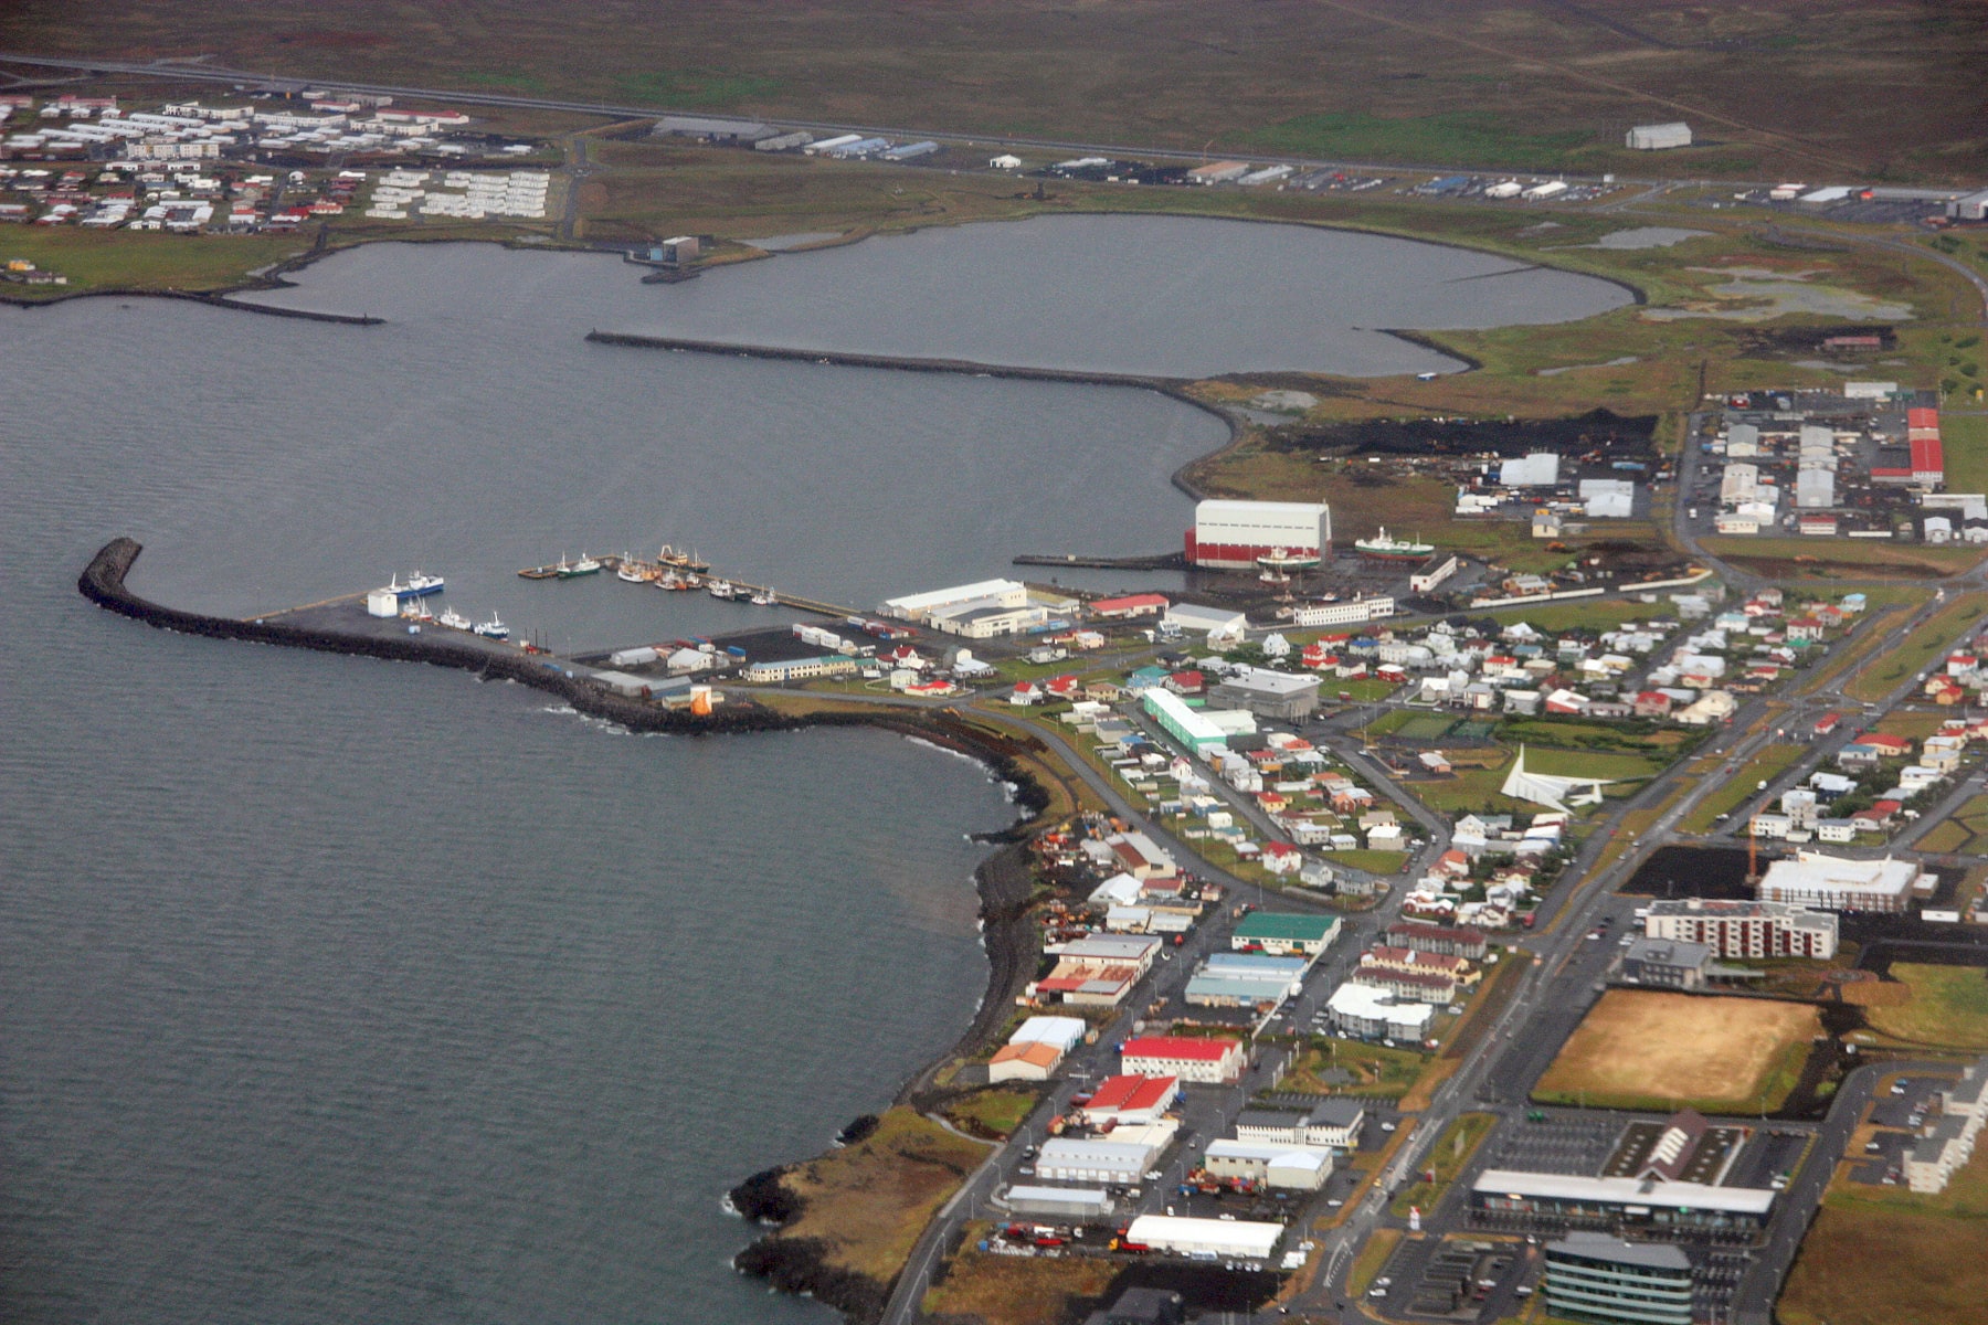
M 211 54 L 300 77 L 968 135 L 1256 147 L 1350 159 L 1706 179 L 1974 179 L 1988 32 L 1960 0 L 1262 4 L 1193 0 L 903 8 L 732 0 L 652 22 L 636 0 L 507 2 L 463 22 L 396 0 L 16 0 L 0 46 L 129 58 Z M 1885 95 L 1893 87 L 1912 95 Z M 1702 145 L 1622 147 L 1622 125 L 1690 119 Z

